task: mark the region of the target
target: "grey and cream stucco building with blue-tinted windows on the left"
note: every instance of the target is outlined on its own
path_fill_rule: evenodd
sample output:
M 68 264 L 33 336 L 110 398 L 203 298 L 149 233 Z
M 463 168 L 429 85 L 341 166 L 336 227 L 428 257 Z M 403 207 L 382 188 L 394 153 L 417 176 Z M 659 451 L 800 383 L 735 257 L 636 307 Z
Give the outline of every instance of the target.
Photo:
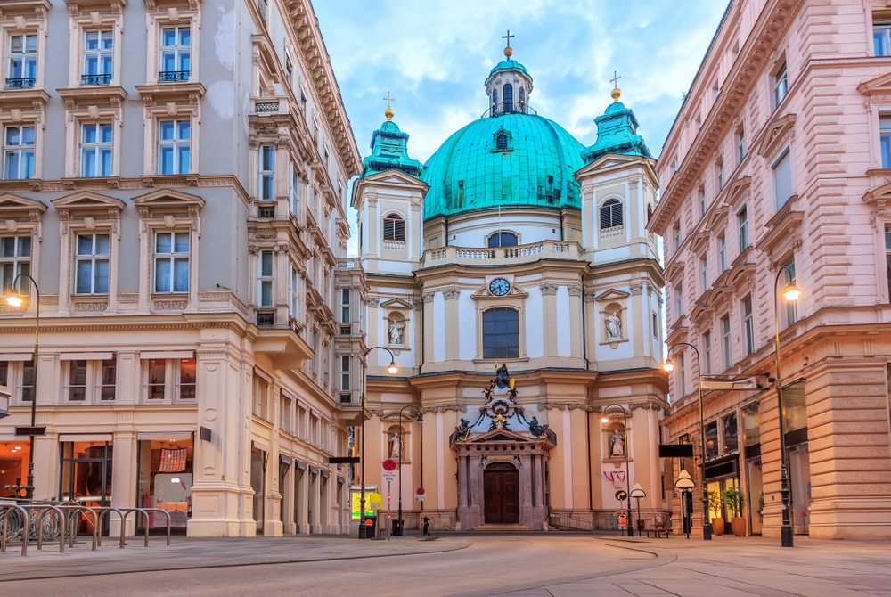
M 346 533 L 361 162 L 311 4 L 17 0 L 0 37 L 3 497 L 33 459 L 37 499 L 192 536 Z

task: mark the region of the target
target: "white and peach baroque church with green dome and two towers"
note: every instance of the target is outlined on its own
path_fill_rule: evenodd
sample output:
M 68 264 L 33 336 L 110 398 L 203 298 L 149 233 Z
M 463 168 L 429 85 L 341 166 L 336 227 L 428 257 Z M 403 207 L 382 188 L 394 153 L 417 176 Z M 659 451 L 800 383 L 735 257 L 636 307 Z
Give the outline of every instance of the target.
M 618 89 L 585 147 L 504 54 L 486 116 L 426 164 L 388 108 L 354 186 L 359 256 L 339 275 L 361 279 L 365 333 L 338 359 L 357 480 L 408 528 L 615 528 L 634 485 L 652 520 L 670 510 L 655 161 Z

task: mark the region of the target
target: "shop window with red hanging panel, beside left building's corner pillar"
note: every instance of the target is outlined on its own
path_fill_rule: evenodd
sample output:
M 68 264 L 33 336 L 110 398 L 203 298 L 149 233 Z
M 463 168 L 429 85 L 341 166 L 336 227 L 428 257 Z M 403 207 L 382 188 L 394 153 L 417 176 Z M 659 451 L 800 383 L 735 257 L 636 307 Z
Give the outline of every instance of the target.
M 192 517 L 194 439 L 191 432 L 139 433 L 136 470 L 136 507 L 160 508 L 170 514 L 170 527 L 185 532 Z M 144 529 L 140 517 L 137 527 Z M 149 515 L 149 530 L 166 529 L 167 518 Z

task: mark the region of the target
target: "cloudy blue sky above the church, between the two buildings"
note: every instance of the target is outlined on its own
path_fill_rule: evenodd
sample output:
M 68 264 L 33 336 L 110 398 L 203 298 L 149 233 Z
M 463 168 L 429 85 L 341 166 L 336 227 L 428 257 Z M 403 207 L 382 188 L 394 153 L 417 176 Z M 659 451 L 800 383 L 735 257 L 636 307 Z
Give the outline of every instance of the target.
M 609 105 L 613 70 L 654 155 L 681 106 L 725 0 L 316 0 L 315 13 L 363 157 L 384 120 L 426 161 L 486 110 L 483 82 L 503 60 L 534 79 L 529 105 L 589 145 Z

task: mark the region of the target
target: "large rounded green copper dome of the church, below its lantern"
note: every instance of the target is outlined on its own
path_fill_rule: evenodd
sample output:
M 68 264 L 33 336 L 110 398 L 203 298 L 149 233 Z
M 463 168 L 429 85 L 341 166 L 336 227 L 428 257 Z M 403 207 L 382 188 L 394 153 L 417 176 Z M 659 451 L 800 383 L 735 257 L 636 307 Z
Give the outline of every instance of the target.
M 566 129 L 535 114 L 471 122 L 424 165 L 424 219 L 498 207 L 579 209 L 573 174 L 584 167 L 582 151 Z

